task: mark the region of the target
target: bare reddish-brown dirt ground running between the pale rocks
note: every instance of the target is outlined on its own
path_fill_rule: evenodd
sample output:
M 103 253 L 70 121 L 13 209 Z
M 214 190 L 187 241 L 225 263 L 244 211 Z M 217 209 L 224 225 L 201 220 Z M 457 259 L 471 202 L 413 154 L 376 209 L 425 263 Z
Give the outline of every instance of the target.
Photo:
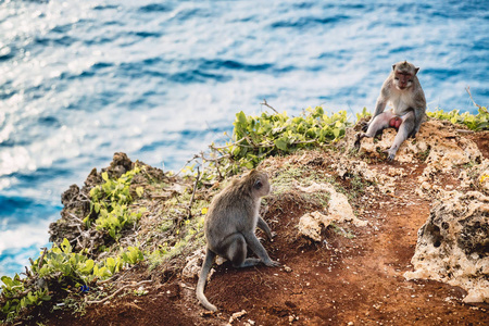
M 488 158 L 489 133 L 471 137 Z M 327 154 L 316 158 L 311 170 L 333 173 L 328 160 Z M 404 167 L 412 173 L 397 181 L 393 195 L 365 193 L 356 199 L 355 212 L 368 225 L 349 226 L 352 238 L 333 228 L 324 230 L 322 243 L 298 238 L 296 226 L 305 208 L 293 196 L 280 198 L 279 204 L 271 202 L 264 218 L 277 236 L 264 246 L 281 266 L 217 266 L 205 288 L 217 313 L 199 305 L 193 290 L 197 279 L 174 277 L 147 285 L 146 296 L 115 297 L 87 306 L 84 315 L 58 311 L 42 323 L 225 325 L 233 314 L 243 311 L 233 325 L 489 325 L 489 304 L 463 303 L 463 289 L 403 277 L 412 271 L 417 230 L 432 204 L 413 191 L 423 164 L 380 161 L 369 165 Z M 446 183 L 456 187 L 456 173 Z M 348 181 L 343 186 L 348 188 Z M 135 280 L 150 278 L 137 268 L 133 273 Z

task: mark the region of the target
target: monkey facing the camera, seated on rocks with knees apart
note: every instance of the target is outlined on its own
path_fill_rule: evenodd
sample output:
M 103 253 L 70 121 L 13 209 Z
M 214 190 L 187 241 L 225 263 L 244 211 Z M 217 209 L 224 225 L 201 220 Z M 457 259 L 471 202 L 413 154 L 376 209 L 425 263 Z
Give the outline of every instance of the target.
M 398 134 L 387 151 L 388 159 L 393 160 L 401 143 L 408 137 L 414 138 L 426 116 L 425 93 L 416 77 L 418 71 L 418 67 L 408 61 L 392 65 L 392 72 L 384 82 L 377 99 L 374 116 L 363 127 L 363 131 L 366 133 L 356 134 L 356 148 L 360 148 L 362 138 L 375 137 L 385 128 L 393 127 L 398 129 Z M 392 104 L 393 112 L 384 112 L 387 102 Z

